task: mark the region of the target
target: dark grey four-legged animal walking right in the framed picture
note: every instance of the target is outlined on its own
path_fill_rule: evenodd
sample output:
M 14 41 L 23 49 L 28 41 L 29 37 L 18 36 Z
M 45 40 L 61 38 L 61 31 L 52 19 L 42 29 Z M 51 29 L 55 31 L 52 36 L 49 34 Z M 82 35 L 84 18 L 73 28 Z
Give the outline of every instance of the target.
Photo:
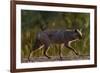
M 38 32 L 36 35 L 35 45 L 32 47 L 32 51 L 38 49 L 44 45 L 44 55 L 47 55 L 47 49 L 50 44 L 64 44 L 65 47 L 71 49 L 76 55 L 78 53 L 71 47 L 71 42 L 81 39 L 82 33 L 78 30 L 45 30 Z

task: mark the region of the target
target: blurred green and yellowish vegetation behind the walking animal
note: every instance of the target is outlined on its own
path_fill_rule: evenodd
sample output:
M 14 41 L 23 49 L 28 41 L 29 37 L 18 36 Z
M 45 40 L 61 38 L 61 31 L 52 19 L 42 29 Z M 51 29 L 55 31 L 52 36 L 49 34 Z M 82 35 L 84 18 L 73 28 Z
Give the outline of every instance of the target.
M 80 29 L 83 39 L 72 43 L 80 54 L 90 54 L 90 14 L 74 12 L 53 12 L 21 10 L 21 57 L 28 57 L 34 45 L 35 35 L 46 29 Z M 67 56 L 71 50 L 62 49 L 62 55 Z M 42 57 L 43 48 L 33 52 L 33 57 Z M 50 46 L 48 55 L 58 56 L 59 48 Z

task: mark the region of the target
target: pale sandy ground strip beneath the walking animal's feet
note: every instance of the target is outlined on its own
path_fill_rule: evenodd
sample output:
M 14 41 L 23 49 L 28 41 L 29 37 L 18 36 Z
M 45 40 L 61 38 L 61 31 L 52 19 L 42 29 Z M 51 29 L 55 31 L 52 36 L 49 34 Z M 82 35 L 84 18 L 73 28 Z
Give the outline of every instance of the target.
M 79 56 L 63 56 L 60 58 L 59 56 L 50 56 L 51 58 L 47 58 L 45 56 L 43 57 L 31 57 L 30 61 L 28 58 L 22 58 L 22 63 L 28 63 L 28 62 L 46 62 L 46 61 L 67 61 L 67 60 L 87 60 L 90 59 L 89 55 L 79 55 Z

